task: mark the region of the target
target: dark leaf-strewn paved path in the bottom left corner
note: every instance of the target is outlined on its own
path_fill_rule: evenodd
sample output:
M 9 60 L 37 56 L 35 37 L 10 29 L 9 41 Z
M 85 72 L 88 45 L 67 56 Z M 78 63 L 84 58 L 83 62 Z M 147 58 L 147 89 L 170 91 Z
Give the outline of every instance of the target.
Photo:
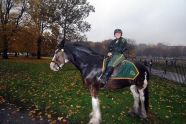
M 40 113 L 40 114 L 39 114 Z M 0 96 L 0 124 L 68 124 L 65 118 L 45 115 L 34 108 L 10 104 Z

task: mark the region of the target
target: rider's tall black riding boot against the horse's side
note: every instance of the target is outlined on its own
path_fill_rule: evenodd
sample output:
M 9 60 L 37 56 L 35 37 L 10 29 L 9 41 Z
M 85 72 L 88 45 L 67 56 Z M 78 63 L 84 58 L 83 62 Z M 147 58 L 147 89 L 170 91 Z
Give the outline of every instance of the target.
M 114 68 L 113 67 L 107 67 L 105 73 L 101 76 L 101 82 L 105 85 L 107 84 L 110 76 L 112 75 Z

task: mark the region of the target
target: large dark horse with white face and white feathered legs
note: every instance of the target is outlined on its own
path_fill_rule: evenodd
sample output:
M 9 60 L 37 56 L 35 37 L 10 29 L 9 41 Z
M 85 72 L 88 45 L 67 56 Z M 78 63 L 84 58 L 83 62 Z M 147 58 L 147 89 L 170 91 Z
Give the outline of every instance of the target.
M 99 124 L 101 122 L 100 103 L 98 91 L 104 87 L 98 80 L 97 75 L 102 72 L 102 62 L 104 56 L 93 51 L 87 46 L 78 43 L 60 43 L 55 50 L 50 63 L 50 69 L 59 71 L 67 62 L 71 62 L 80 71 L 83 84 L 89 89 L 92 97 L 92 112 L 90 113 L 89 124 Z M 134 80 L 129 79 L 110 79 L 106 89 L 117 90 L 124 87 L 130 87 L 133 94 L 134 104 L 129 109 L 128 114 L 135 117 L 147 118 L 149 107 L 148 81 L 149 72 L 147 68 L 134 62 L 139 70 L 139 75 Z

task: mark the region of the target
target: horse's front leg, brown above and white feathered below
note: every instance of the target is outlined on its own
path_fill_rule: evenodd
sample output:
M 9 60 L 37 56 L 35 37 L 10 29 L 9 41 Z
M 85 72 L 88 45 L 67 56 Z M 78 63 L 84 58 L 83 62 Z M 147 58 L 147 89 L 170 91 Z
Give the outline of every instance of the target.
M 90 113 L 89 124 L 99 124 L 101 122 L 101 111 L 98 99 L 98 89 L 95 87 L 90 88 L 90 93 L 92 96 L 92 112 Z

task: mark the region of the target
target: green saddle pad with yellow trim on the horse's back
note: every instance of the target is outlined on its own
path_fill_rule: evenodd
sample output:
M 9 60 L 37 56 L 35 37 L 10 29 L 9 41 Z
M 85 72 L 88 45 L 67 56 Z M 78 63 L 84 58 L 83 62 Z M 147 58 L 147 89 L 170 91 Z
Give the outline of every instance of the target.
M 119 66 L 114 69 L 111 79 L 130 79 L 134 80 L 139 74 L 134 63 L 124 60 Z

